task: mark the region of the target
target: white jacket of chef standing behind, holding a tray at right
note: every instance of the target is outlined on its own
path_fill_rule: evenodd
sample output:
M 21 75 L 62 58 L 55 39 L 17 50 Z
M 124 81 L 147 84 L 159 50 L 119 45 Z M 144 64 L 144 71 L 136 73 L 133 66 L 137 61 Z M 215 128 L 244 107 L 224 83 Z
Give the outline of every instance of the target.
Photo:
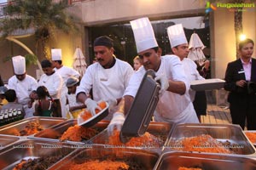
M 189 82 L 194 80 L 204 80 L 204 77 L 201 77 L 199 72 L 197 71 L 197 66 L 195 65 L 195 62 L 192 59 L 184 58 L 182 60 L 183 67 L 185 74 L 189 80 Z M 191 101 L 194 101 L 195 99 L 195 90 L 192 90 L 189 88 L 189 96 Z

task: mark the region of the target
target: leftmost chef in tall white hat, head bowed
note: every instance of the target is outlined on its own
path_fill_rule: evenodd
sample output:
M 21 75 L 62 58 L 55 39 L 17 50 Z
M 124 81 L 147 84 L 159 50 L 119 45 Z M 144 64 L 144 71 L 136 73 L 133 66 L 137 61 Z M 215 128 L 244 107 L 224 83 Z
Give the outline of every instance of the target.
M 14 89 L 18 103 L 23 105 L 26 117 L 33 116 L 34 110 L 31 107 L 30 94 L 38 88 L 38 82 L 34 77 L 26 74 L 26 59 L 20 55 L 12 58 L 15 76 L 8 81 L 9 89 Z

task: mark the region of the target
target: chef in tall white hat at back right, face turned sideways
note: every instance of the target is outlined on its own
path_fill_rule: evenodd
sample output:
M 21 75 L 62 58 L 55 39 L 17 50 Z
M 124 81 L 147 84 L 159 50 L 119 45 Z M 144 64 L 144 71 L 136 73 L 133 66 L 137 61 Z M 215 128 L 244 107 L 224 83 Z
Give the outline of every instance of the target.
M 187 58 L 189 54 L 189 44 L 185 36 L 182 24 L 169 26 L 167 28 L 168 37 L 171 43 L 173 54 L 177 55 L 183 63 L 184 71 L 188 77 L 189 82 L 194 80 L 204 80 L 197 71 L 197 66 L 192 59 Z M 207 96 L 205 91 L 198 91 L 189 89 L 190 99 L 194 105 L 196 115 L 201 122 L 201 115 L 207 113 Z

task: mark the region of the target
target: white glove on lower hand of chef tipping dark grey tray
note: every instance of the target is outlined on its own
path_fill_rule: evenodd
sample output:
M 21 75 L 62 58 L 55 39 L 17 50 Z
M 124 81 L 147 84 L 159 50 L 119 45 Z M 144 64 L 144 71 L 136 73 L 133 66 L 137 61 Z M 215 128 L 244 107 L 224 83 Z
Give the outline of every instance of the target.
M 111 135 L 113 133 L 114 128 L 120 131 L 124 122 L 125 122 L 125 116 L 123 113 L 119 113 L 119 112 L 114 113 L 113 118 L 108 125 L 108 134 Z

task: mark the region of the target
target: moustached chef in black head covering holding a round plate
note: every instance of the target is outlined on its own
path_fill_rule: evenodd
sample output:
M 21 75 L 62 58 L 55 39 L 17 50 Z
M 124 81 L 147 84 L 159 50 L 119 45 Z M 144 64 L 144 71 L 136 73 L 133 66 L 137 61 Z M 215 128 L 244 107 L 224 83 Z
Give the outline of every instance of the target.
M 113 55 L 113 40 L 110 37 L 97 37 L 94 41 L 94 54 L 97 62 L 89 65 L 77 88 L 77 99 L 84 103 L 92 115 L 98 108 L 97 102 L 104 100 L 110 105 L 110 120 L 119 100 L 128 85 L 133 69 L 127 62 Z M 90 98 L 92 89 L 93 99 Z

